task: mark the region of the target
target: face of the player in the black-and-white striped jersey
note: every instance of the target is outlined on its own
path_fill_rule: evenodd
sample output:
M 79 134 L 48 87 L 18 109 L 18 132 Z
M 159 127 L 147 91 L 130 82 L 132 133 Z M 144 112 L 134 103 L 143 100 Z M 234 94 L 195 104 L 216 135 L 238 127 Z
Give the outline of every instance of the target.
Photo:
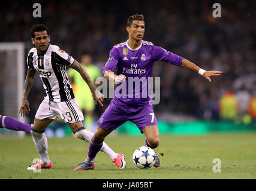
M 46 30 L 35 32 L 34 35 L 35 38 L 32 38 L 32 42 L 35 44 L 35 48 L 39 54 L 44 53 L 49 46 L 50 36 L 47 35 Z

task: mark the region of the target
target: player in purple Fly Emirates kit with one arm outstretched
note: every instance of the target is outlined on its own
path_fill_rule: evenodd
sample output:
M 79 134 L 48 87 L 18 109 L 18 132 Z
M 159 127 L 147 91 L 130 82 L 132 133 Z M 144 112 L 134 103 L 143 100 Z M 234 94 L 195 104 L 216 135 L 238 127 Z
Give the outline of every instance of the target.
M 133 97 L 118 96 L 119 85 L 129 85 L 127 78 L 149 78 L 152 75 L 153 62 L 157 60 L 198 72 L 209 82 L 211 81 L 211 76 L 219 76 L 222 73 L 216 70 L 206 71 L 200 69 L 200 67 L 183 57 L 157 47 L 152 42 L 143 41 L 145 24 L 144 16 L 141 14 L 130 16 L 127 20 L 126 29 L 129 35 L 128 41 L 112 48 L 109 60 L 103 69 L 104 77 L 118 84 L 114 98 L 97 122 L 98 129 L 89 145 L 88 158 L 74 170 L 91 170 L 95 166 L 94 160 L 103 145 L 104 138 L 126 121 L 134 122 L 141 133 L 144 133 L 146 136 L 144 146 L 152 149 L 158 147 L 159 130 L 153 107 L 150 103 L 152 98 L 148 94 L 146 98 L 141 97 L 141 95 L 136 97 L 134 89 Z M 116 74 L 113 73 L 115 70 Z M 140 92 L 143 86 L 140 85 Z M 160 161 L 156 155 L 154 167 L 159 167 L 159 165 Z

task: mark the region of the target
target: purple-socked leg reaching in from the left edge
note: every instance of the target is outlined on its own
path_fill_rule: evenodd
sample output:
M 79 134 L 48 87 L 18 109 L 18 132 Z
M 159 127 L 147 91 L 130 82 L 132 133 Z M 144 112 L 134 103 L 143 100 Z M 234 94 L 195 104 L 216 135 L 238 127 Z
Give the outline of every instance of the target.
M 25 124 L 9 116 L 1 116 L 0 128 L 7 128 L 8 130 L 14 131 L 26 131 L 27 133 L 31 132 L 31 125 Z

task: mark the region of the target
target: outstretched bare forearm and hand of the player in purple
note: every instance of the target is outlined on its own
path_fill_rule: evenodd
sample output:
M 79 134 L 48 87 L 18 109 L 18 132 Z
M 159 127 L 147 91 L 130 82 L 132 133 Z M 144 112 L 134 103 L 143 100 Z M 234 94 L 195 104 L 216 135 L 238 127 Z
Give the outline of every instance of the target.
M 198 67 L 191 61 L 186 60 L 185 58 L 183 58 L 183 60 L 182 60 L 181 67 L 184 67 L 185 69 L 188 69 L 188 70 L 191 70 L 194 72 L 199 72 L 199 70 L 200 70 L 200 67 Z M 211 82 L 212 81 L 212 79 L 210 79 L 211 76 L 219 76 L 219 75 L 221 75 L 221 73 L 222 72 L 218 71 L 218 70 L 203 71 L 203 76 L 209 82 Z

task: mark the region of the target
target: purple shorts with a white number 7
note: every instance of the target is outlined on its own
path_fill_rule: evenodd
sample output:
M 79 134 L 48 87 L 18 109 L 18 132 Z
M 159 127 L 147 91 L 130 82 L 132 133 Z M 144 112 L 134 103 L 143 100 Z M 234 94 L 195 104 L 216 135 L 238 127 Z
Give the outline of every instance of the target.
M 155 113 L 152 104 L 146 104 L 138 107 L 121 106 L 115 101 L 111 101 L 103 115 L 97 121 L 97 124 L 105 130 L 116 130 L 120 125 L 127 121 L 133 122 L 143 133 L 143 128 L 149 125 L 157 125 Z

